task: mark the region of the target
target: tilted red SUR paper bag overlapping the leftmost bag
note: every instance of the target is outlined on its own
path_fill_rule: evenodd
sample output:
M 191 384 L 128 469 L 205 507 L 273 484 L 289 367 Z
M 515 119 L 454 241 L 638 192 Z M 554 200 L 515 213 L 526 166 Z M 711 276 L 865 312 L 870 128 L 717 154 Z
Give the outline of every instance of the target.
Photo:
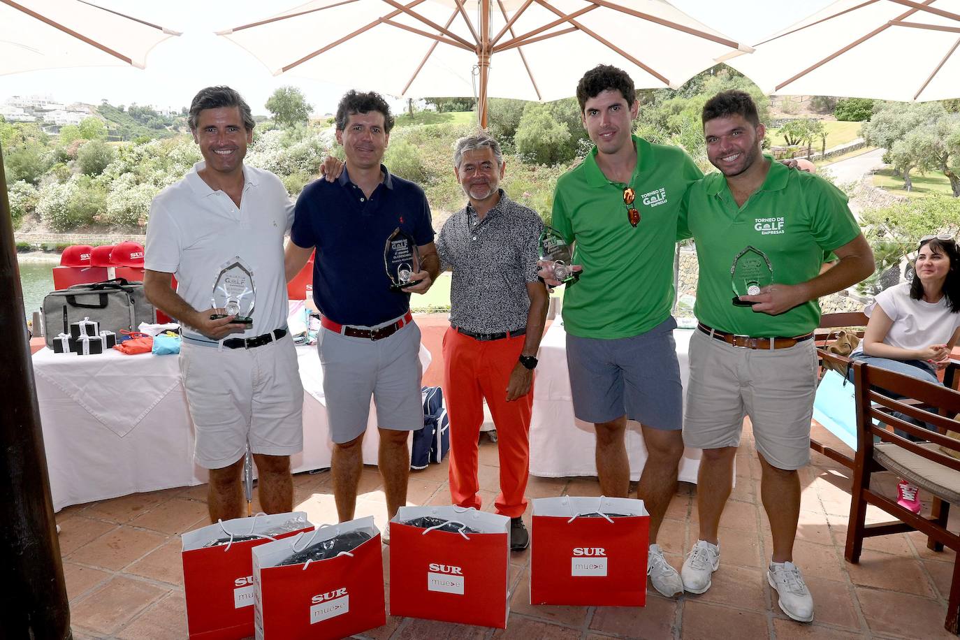
M 281 564 L 345 533 L 371 537 L 337 557 Z M 359 518 L 253 550 L 256 640 L 343 638 L 387 624 L 380 532 Z

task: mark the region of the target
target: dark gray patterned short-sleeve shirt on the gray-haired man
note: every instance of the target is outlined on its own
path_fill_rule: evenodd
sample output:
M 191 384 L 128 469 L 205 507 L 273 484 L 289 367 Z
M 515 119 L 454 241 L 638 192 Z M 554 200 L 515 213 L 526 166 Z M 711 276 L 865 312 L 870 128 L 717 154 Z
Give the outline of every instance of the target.
M 453 272 L 450 324 L 474 333 L 516 331 L 527 325 L 527 283 L 537 281 L 543 221 L 500 190 L 480 220 L 468 203 L 440 231 L 437 252 Z

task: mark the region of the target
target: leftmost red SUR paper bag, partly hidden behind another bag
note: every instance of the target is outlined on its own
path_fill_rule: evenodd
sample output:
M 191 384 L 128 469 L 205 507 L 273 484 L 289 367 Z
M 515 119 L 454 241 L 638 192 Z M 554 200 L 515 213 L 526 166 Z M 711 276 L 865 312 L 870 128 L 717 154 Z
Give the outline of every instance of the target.
M 311 530 L 306 513 L 297 511 L 236 518 L 183 533 L 183 595 L 189 637 L 234 640 L 251 636 L 251 549 L 274 538 Z M 251 535 L 258 537 L 245 539 Z M 225 543 L 204 546 L 216 540 Z

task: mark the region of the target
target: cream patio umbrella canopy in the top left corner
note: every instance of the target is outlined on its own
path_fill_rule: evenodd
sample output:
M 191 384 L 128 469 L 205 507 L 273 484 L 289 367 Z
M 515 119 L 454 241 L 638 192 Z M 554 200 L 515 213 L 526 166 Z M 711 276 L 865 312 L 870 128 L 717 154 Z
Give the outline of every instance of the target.
M 132 65 L 176 31 L 83 0 L 0 0 L 0 75 Z

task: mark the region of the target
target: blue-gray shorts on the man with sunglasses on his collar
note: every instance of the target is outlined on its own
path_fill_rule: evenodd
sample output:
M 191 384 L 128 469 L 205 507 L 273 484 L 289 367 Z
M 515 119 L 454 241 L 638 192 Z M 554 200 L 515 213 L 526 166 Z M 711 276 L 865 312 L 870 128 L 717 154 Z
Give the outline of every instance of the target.
M 683 426 L 677 321 L 663 320 L 632 338 L 601 340 L 566 335 L 573 413 L 587 422 L 621 415 L 646 427 L 678 431 Z

